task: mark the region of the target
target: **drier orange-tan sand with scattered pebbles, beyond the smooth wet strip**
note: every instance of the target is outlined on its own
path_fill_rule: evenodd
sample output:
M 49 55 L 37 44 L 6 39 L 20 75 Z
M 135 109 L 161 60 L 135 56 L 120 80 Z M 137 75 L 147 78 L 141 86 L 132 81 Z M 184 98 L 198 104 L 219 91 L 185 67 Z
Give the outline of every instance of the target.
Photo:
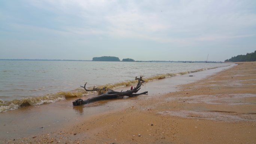
M 54 132 L 1 142 L 256 143 L 256 62 L 240 62 L 178 88 L 165 95 L 142 96 L 127 108 L 96 114 Z

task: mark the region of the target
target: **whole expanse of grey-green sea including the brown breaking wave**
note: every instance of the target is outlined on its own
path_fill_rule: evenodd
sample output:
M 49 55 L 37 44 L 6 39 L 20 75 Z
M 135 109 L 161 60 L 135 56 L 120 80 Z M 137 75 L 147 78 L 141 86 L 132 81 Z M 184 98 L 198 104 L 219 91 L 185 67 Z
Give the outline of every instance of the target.
M 92 61 L 0 61 L 0 112 L 90 95 L 86 87 L 114 89 L 196 71 L 223 67 L 227 63 L 92 62 Z

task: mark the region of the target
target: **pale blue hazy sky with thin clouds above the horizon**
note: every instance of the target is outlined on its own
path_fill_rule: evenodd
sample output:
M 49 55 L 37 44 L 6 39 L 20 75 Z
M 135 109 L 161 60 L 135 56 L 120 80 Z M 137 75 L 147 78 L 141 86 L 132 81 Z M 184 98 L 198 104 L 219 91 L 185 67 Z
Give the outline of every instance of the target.
M 0 59 L 224 61 L 256 50 L 256 0 L 1 0 Z

